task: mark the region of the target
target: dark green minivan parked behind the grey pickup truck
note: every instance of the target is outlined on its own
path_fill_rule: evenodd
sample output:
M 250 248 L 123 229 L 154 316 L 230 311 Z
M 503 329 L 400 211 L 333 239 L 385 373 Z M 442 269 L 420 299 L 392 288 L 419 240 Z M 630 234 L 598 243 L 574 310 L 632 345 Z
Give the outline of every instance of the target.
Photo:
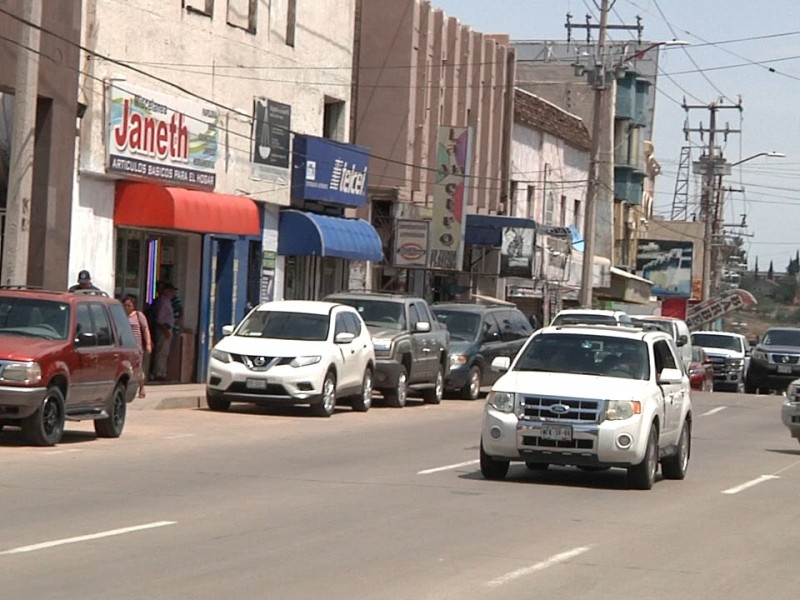
M 525 314 L 507 305 L 434 304 L 433 314 L 450 332 L 450 374 L 445 389 L 476 400 L 484 384 L 500 374 L 489 365 L 497 356 L 515 356 L 533 327 Z

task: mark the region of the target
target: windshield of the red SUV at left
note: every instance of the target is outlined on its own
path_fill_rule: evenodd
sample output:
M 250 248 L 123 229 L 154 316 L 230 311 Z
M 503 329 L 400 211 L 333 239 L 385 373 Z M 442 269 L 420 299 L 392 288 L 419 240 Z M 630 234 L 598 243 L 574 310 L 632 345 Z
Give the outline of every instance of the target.
M 33 298 L 0 298 L 0 335 L 65 340 L 69 304 Z

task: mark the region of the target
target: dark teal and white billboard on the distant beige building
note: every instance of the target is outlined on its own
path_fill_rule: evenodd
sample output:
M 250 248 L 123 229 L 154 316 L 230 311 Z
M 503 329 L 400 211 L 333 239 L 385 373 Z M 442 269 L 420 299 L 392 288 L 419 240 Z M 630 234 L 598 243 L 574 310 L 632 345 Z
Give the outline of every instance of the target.
M 636 274 L 653 282 L 651 294 L 691 298 L 693 242 L 639 240 Z

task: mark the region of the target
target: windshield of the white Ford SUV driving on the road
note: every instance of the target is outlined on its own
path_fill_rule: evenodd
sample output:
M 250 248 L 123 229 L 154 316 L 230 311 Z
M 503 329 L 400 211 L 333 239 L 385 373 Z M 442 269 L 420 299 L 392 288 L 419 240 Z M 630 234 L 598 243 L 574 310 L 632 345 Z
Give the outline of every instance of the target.
M 641 340 L 545 333 L 525 346 L 514 370 L 647 380 L 650 361 Z

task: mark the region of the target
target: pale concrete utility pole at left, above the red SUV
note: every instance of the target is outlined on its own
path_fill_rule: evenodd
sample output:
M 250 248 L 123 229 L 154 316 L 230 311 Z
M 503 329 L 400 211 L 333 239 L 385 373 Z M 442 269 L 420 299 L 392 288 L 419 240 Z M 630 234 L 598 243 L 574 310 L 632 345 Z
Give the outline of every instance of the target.
M 2 283 L 28 282 L 28 255 L 33 196 L 33 147 L 36 140 L 36 101 L 39 90 L 39 25 L 42 0 L 26 0 L 23 6 L 20 46 L 14 82 L 14 125 L 8 172 L 8 198 Z M 28 25 L 30 23 L 30 25 Z

